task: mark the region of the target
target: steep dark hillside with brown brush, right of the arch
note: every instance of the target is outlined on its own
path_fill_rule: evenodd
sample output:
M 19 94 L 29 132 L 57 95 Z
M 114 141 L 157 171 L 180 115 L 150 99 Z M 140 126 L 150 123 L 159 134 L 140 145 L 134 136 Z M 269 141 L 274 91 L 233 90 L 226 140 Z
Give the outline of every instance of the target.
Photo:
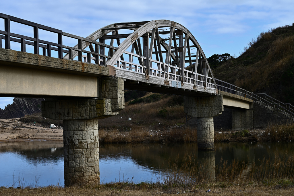
M 260 33 L 238 58 L 216 67 L 213 74 L 253 93 L 294 104 L 294 23 Z

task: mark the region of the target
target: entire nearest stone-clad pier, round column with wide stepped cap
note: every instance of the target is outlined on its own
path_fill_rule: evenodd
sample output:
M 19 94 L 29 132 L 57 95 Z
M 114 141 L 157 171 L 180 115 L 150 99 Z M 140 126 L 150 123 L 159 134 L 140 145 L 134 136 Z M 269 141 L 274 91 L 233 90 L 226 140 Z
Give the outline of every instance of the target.
M 124 108 L 122 78 L 99 78 L 99 98 L 42 101 L 42 116 L 63 120 L 64 185 L 99 184 L 98 118 Z

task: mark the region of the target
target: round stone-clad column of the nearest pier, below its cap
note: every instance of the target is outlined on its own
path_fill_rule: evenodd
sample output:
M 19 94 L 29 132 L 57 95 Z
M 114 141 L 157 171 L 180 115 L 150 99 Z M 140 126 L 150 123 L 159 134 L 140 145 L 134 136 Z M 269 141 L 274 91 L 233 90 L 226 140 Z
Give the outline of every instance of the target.
M 98 120 L 64 120 L 64 185 L 99 184 Z

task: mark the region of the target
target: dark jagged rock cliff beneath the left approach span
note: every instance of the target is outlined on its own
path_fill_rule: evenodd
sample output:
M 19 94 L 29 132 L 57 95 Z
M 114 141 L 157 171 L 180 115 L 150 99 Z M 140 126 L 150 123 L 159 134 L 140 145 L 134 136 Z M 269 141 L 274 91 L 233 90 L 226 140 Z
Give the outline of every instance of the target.
M 28 114 L 41 112 L 43 98 L 14 98 L 13 103 L 0 109 L 0 119 L 20 118 Z

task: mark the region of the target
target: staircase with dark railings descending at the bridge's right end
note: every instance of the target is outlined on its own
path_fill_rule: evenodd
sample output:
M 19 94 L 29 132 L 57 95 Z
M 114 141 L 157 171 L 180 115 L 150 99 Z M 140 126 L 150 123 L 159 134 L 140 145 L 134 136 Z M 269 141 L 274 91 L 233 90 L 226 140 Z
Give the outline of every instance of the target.
M 294 106 L 290 103 L 282 103 L 266 93 L 253 94 L 253 101 L 270 111 L 278 112 L 294 121 Z

